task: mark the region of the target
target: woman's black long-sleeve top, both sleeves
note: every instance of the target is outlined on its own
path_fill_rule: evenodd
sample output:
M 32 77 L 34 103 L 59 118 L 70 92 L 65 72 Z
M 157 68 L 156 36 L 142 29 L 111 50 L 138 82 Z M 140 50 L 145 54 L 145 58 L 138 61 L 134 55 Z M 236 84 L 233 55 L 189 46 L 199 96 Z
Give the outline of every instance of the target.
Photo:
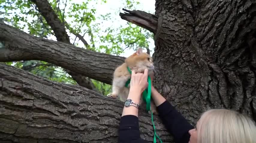
M 194 127 L 167 100 L 157 107 L 165 128 L 170 132 L 175 143 L 188 143 L 189 130 Z M 141 139 L 138 117 L 125 115 L 120 119 L 118 143 L 148 143 Z M 161 138 L 161 136 L 159 136 Z

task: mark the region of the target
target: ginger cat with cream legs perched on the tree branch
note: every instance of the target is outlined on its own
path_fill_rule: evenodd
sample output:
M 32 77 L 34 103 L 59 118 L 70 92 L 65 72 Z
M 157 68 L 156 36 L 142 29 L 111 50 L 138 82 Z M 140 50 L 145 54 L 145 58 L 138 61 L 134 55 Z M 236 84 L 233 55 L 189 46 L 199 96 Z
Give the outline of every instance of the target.
M 129 94 L 129 85 L 128 88 L 125 87 L 125 83 L 129 78 L 131 78 L 131 74 L 129 73 L 127 66 L 132 70 L 135 70 L 135 72 L 144 72 L 144 69 L 148 69 L 148 74 L 153 73 L 154 65 L 153 65 L 153 59 L 148 55 L 147 53 L 142 52 L 142 49 L 139 48 L 135 53 L 133 53 L 131 56 L 127 57 L 125 59 L 125 62 L 118 66 L 114 71 L 114 78 L 112 82 L 112 93 L 108 94 L 108 97 L 111 98 L 118 98 L 121 101 L 127 100 L 128 94 Z M 141 96 L 140 103 L 144 102 Z M 156 105 L 151 100 L 150 102 L 151 110 L 153 114 L 158 115 L 158 112 L 156 110 Z

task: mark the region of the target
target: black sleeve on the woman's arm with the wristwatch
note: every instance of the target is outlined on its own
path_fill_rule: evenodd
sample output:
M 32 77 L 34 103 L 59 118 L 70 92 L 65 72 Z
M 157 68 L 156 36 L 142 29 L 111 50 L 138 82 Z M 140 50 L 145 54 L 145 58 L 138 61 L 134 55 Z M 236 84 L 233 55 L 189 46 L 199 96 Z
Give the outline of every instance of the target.
M 148 143 L 140 137 L 137 116 L 125 115 L 121 117 L 118 130 L 118 143 Z

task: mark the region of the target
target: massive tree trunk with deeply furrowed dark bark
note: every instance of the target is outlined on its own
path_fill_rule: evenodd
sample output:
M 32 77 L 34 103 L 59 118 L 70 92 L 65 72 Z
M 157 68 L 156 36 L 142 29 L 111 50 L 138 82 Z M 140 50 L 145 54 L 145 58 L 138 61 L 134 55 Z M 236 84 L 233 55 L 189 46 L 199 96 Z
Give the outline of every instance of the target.
M 256 121 L 256 1 L 157 0 L 157 89 L 196 123 L 209 108 Z

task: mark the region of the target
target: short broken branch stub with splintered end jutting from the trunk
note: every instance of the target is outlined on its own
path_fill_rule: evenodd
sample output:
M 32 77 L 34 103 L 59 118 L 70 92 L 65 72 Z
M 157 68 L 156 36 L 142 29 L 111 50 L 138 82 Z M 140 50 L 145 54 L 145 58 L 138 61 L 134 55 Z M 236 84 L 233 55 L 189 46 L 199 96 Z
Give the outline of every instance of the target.
M 140 10 L 126 10 L 127 13 L 119 13 L 122 19 L 156 33 L 157 16 Z

